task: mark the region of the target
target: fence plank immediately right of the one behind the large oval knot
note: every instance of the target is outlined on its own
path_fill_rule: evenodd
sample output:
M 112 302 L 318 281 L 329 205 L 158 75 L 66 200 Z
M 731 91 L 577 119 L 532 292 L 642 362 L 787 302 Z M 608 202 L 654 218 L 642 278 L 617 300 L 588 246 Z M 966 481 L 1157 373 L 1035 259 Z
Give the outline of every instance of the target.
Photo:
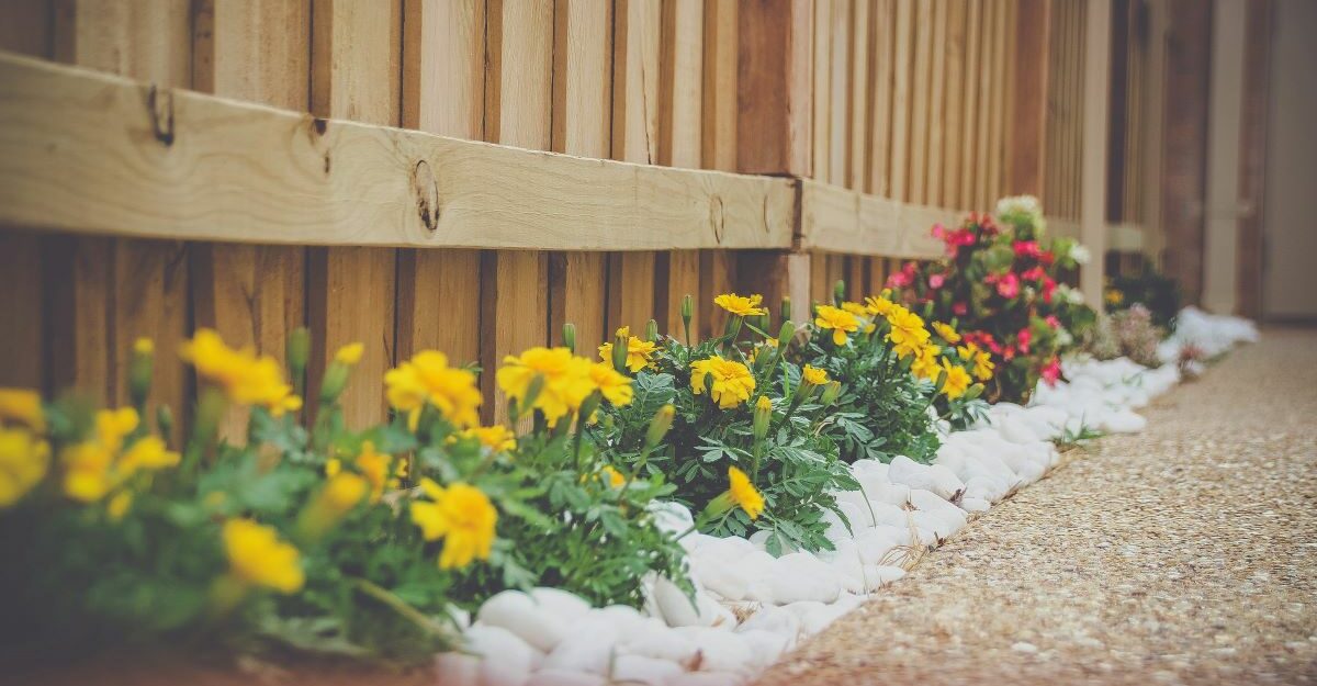
M 548 150 L 552 142 L 553 5 L 491 0 L 486 17 L 485 133 Z M 494 129 L 491 132 L 491 129 Z M 481 387 L 486 417 L 507 411 L 494 383 L 504 356 L 548 342 L 548 258 L 539 250 L 487 250 L 481 258 Z

